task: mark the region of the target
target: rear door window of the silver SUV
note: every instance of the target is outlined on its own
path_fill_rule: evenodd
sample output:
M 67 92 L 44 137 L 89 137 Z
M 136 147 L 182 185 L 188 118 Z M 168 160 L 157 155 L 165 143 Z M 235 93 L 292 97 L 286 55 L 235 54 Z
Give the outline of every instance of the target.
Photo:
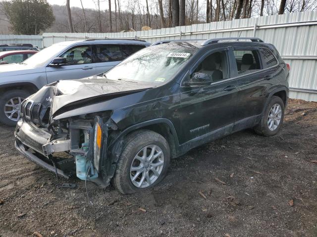
M 95 45 L 96 63 L 122 61 L 120 44 L 97 44 Z

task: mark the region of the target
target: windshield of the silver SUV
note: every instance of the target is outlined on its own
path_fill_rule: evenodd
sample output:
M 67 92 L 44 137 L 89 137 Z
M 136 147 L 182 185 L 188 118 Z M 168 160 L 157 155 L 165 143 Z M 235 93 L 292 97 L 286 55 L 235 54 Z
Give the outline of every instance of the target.
M 31 67 L 42 67 L 45 64 L 49 63 L 48 60 L 64 48 L 65 45 L 53 44 L 32 55 L 31 57 L 23 61 L 23 63 Z

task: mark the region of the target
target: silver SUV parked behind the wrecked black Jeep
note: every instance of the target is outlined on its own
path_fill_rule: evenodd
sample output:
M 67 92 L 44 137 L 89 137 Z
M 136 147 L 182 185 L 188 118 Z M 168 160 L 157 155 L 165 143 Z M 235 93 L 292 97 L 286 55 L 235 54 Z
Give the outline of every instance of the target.
M 0 122 L 14 126 L 20 104 L 42 86 L 108 71 L 136 51 L 143 40 L 76 40 L 55 43 L 19 64 L 0 66 Z

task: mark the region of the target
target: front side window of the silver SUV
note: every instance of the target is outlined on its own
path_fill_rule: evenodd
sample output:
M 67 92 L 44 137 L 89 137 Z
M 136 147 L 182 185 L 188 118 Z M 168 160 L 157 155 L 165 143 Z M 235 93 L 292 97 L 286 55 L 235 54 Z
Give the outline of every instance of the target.
M 62 53 L 59 57 L 66 58 L 66 65 L 92 63 L 91 45 L 75 46 Z

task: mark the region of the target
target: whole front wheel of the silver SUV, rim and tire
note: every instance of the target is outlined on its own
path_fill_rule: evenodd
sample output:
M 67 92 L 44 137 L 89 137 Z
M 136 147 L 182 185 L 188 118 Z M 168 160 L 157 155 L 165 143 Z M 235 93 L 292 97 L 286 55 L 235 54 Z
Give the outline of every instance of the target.
M 19 106 L 30 94 L 31 93 L 26 90 L 19 89 L 3 92 L 0 97 L 0 122 L 8 126 L 15 126 L 20 118 Z M 9 113 L 11 108 L 14 112 Z M 11 115 L 12 117 L 9 118 Z

